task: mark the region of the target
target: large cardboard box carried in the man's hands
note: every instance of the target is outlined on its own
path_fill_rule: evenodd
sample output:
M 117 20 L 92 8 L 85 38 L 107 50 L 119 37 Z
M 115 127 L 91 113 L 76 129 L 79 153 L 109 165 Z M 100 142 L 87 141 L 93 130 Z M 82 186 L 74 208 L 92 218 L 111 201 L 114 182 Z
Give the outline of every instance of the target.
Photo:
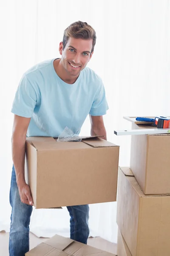
M 34 206 L 116 201 L 118 161 L 119 146 L 96 136 L 81 142 L 28 137 L 25 170 Z

